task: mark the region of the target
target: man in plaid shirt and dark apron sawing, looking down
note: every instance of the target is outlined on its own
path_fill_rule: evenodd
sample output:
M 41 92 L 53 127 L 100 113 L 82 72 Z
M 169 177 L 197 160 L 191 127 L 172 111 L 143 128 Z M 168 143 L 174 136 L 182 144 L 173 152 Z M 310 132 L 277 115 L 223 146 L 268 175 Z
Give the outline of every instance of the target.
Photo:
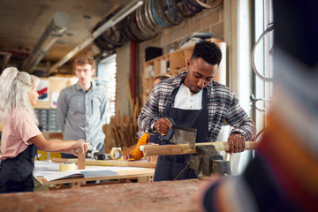
M 223 122 L 233 127 L 228 139 L 230 153 L 245 150 L 245 141 L 254 140 L 256 128 L 239 106 L 229 87 L 213 80 L 222 59 L 222 52 L 213 42 L 199 42 L 187 61 L 187 72 L 165 79 L 155 85 L 148 102 L 138 117 L 145 133 L 167 134 L 171 117 L 176 125 L 196 128 L 196 142 L 216 141 Z M 162 140 L 162 144 L 169 144 Z M 189 155 L 160 155 L 155 181 L 174 179 L 183 170 Z M 196 178 L 187 170 L 179 179 Z

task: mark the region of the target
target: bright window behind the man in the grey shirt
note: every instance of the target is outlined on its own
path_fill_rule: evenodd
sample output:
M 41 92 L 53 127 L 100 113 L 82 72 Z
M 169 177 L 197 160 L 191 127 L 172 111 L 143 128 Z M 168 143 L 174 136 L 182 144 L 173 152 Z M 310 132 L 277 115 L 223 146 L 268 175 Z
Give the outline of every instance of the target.
M 97 66 L 97 85 L 106 89 L 106 124 L 110 124 L 110 118 L 115 116 L 116 110 L 116 54 L 106 57 Z

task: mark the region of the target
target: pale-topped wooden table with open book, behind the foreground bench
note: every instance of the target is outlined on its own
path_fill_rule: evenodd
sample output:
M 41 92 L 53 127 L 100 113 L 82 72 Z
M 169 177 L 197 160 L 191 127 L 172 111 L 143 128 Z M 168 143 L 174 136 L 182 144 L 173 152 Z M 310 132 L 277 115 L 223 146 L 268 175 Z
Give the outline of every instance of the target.
M 125 183 L 126 179 L 136 179 L 137 182 L 152 182 L 155 169 L 152 168 L 137 168 L 137 167 L 111 167 L 111 166 L 87 166 L 86 170 L 110 170 L 110 173 L 104 176 L 92 178 L 63 178 L 48 181 L 42 177 L 43 173 L 59 172 L 58 163 L 50 162 L 35 162 L 34 178 L 36 178 L 42 186 L 50 185 L 58 187 L 63 184 L 71 184 L 71 188 L 79 188 L 87 181 L 101 181 L 109 179 L 119 179 Z

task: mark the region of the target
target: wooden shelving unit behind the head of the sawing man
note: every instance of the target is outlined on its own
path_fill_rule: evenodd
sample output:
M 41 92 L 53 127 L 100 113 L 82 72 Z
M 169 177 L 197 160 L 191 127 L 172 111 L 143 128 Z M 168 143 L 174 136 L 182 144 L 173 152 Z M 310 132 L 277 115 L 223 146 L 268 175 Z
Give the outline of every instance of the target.
M 223 53 L 222 61 L 216 72 L 215 80 L 226 84 L 226 44 L 222 40 L 209 39 L 209 42 L 215 42 Z M 178 73 L 186 71 L 186 61 L 192 56 L 194 44 L 192 46 L 178 49 L 161 57 L 155 57 L 143 65 L 142 74 L 142 105 L 148 101 L 155 77 L 164 73 L 170 76 L 177 76 Z

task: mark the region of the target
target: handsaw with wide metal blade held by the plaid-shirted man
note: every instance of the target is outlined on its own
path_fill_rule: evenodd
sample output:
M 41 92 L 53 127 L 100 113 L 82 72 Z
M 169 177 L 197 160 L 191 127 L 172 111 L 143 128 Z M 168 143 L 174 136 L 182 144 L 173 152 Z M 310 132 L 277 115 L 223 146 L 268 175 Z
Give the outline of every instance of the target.
M 168 134 L 161 134 L 163 140 L 170 140 L 174 144 L 188 144 L 190 148 L 195 148 L 196 129 L 176 125 L 171 117 L 166 117 L 170 122 L 171 128 Z

